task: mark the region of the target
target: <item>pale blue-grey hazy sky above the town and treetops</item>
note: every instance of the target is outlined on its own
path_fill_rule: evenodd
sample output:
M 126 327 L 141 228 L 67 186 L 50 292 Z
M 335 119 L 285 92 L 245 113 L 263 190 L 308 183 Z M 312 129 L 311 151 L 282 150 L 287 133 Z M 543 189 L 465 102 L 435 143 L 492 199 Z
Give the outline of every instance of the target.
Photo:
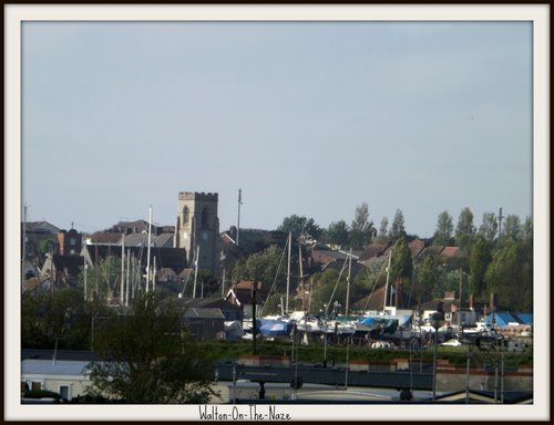
M 28 220 L 321 227 L 369 205 L 432 236 L 447 210 L 532 214 L 531 22 L 22 24 Z

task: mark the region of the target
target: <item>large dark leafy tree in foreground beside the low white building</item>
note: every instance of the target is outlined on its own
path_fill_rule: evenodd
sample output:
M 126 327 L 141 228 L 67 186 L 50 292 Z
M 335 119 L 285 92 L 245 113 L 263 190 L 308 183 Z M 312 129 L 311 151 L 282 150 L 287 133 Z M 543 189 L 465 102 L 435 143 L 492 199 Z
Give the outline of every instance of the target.
M 167 301 L 166 301 L 167 302 Z M 183 310 L 154 292 L 135 299 L 131 313 L 99 321 L 89 395 L 125 403 L 203 404 L 214 394 L 209 353 L 193 340 Z

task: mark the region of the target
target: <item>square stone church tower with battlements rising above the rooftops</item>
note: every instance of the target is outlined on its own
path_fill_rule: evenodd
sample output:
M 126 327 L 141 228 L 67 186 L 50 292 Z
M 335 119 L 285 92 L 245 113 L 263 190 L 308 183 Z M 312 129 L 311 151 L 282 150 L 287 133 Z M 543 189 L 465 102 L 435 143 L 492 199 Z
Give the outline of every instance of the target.
M 185 248 L 188 267 L 194 267 L 198 255 L 198 268 L 219 274 L 219 218 L 217 194 L 179 191 L 175 248 Z

